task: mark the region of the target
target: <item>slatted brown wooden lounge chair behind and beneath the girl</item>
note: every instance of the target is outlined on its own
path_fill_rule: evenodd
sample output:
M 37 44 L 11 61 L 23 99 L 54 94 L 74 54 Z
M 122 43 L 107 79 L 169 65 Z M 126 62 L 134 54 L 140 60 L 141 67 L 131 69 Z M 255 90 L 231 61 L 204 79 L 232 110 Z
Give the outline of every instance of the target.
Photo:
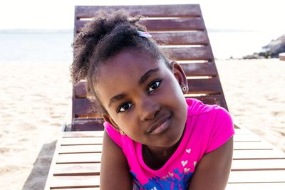
M 126 9 L 151 18 L 144 22 L 153 38 L 172 48 L 188 76 L 190 94 L 227 109 L 212 48 L 197 4 L 160 6 L 76 6 L 75 31 L 99 9 Z M 167 19 L 161 19 L 161 18 Z M 156 18 L 156 19 L 155 19 Z M 160 19 L 157 19 L 160 18 Z M 46 182 L 48 189 L 100 189 L 103 120 L 88 113 L 84 82 L 73 87 L 71 129 L 58 140 Z M 237 127 L 227 190 L 285 189 L 285 154 L 244 127 Z M 99 130 L 90 132 L 90 130 Z

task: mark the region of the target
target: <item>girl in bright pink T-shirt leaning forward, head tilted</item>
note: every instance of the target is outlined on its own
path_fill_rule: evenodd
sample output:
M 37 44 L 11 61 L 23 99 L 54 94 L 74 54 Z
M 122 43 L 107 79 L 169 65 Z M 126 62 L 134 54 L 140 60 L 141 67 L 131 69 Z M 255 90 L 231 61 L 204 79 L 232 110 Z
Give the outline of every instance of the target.
M 74 43 L 73 83 L 85 78 L 105 120 L 100 189 L 224 189 L 234 128 L 217 105 L 186 99 L 182 67 L 140 17 L 101 12 Z

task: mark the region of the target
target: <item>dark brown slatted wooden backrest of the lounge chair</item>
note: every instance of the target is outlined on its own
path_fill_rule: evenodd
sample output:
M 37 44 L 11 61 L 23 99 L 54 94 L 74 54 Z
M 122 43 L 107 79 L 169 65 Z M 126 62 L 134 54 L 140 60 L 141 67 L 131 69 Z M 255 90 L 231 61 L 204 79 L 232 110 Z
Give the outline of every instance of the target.
M 189 93 L 207 104 L 227 109 L 222 85 L 199 4 L 145 6 L 76 6 L 74 35 L 99 10 L 125 9 L 131 16 L 147 16 L 142 21 L 156 41 L 175 55 L 188 78 Z M 88 113 L 85 82 L 73 86 L 71 130 L 103 130 L 103 118 Z

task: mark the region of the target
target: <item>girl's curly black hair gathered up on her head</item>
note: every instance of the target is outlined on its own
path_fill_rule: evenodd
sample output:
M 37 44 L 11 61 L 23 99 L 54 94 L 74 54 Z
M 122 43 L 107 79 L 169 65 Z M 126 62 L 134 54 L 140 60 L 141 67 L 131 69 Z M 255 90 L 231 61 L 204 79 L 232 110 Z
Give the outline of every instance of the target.
M 120 9 L 109 14 L 99 11 L 86 24 L 73 43 L 73 63 L 71 65 L 71 80 L 76 85 L 80 80 L 86 80 L 86 91 L 92 102 L 99 102 L 95 107 L 106 110 L 100 103 L 94 85 L 100 72 L 100 64 L 112 58 L 125 48 L 147 53 L 152 58 L 164 60 L 170 65 L 166 52 L 157 46 L 152 38 L 138 36 L 138 31 L 147 31 L 145 26 L 138 23 L 143 17 L 130 17 L 127 11 Z M 92 98 L 93 97 L 93 98 Z

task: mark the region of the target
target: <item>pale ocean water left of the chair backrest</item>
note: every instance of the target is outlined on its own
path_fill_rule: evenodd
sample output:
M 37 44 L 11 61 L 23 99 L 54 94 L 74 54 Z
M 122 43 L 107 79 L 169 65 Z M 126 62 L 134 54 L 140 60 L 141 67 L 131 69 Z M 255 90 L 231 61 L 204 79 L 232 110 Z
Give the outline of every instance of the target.
M 73 31 L 0 31 L 0 63 L 71 62 Z

